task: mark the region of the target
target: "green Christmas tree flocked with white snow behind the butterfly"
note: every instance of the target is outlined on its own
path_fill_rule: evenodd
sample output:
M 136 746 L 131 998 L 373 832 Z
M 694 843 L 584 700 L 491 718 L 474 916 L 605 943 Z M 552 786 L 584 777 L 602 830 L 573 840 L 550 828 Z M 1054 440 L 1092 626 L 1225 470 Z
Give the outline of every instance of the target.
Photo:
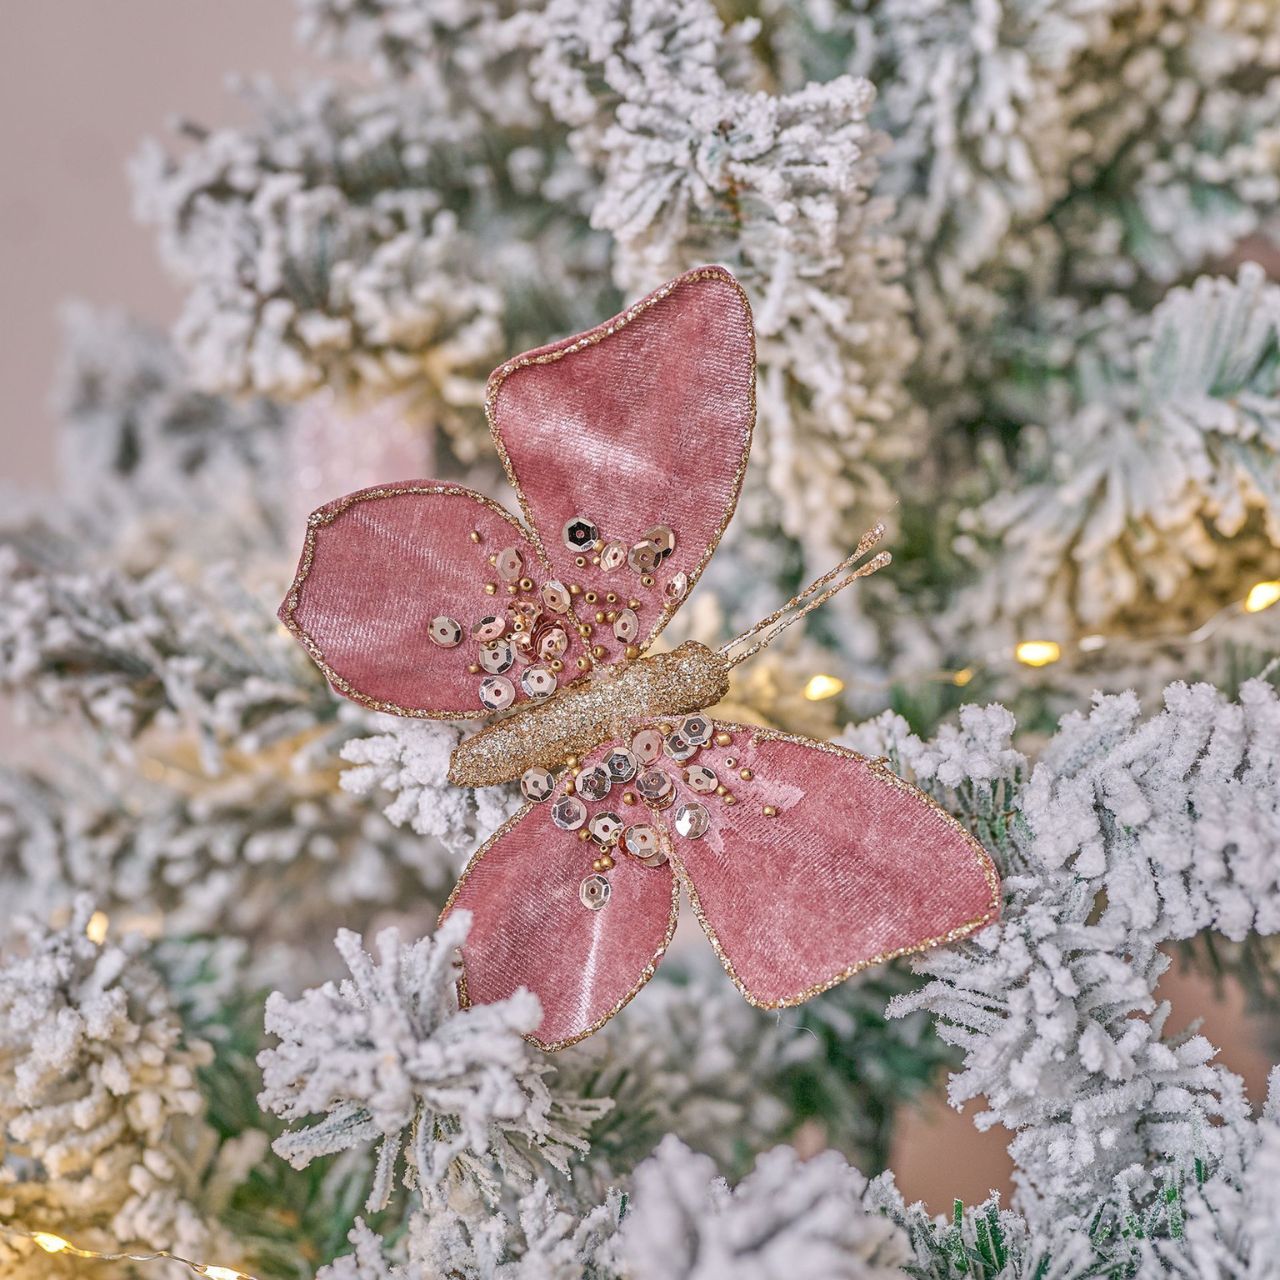
M 1276 1275 L 1280 1078 L 1247 1098 L 1158 991 L 1180 948 L 1280 1006 L 1275 8 L 302 0 L 300 29 L 349 82 L 141 151 L 183 315 L 69 314 L 64 485 L 0 531 L 31 726 L 0 1276 Z M 705 261 L 755 308 L 759 425 L 672 630 L 723 639 L 884 517 L 895 571 L 731 703 L 887 756 L 1004 916 L 786 1020 L 678 951 L 545 1056 L 532 997 L 458 1009 L 466 918 L 430 931 L 513 795 L 447 782 L 456 727 L 335 699 L 273 608 L 311 506 L 498 492 L 489 369 Z M 895 1116 L 943 1084 L 1007 1133 L 1010 1204 L 899 1196 Z

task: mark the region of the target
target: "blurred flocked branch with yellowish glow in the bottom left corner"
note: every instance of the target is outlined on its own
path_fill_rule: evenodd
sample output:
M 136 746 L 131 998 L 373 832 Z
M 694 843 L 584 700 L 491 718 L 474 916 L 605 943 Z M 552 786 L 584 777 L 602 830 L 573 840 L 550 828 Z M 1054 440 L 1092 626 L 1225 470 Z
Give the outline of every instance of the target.
M 207 1249 L 209 1046 L 184 1038 L 142 940 L 93 941 L 97 919 L 82 899 L 0 960 L 0 1217 Z M 33 1252 L 0 1238 L 0 1275 L 29 1275 Z

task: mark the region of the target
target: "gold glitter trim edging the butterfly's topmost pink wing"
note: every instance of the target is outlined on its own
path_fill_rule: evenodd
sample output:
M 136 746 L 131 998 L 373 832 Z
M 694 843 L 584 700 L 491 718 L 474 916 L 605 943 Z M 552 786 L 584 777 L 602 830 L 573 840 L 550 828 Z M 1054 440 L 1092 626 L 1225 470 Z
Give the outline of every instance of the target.
M 489 431 L 493 435 L 493 443 L 498 449 L 498 457 L 502 458 L 503 470 L 507 472 L 507 480 L 511 483 L 512 489 L 516 490 L 516 498 L 520 502 L 520 511 L 525 517 L 525 524 L 529 526 L 529 534 L 532 539 L 534 545 L 538 548 L 538 553 L 545 564 L 550 564 L 550 557 L 543 545 L 541 532 L 538 527 L 538 522 L 534 520 L 534 513 L 530 509 L 529 500 L 525 497 L 525 490 L 521 488 L 520 480 L 516 476 L 516 468 L 512 466 L 511 457 L 507 453 L 507 448 L 502 442 L 502 435 L 498 430 L 498 393 L 502 390 L 503 383 L 512 374 L 521 369 L 526 369 L 530 365 L 550 365 L 564 356 L 571 356 L 584 347 L 594 347 L 596 343 L 604 342 L 605 338 L 612 337 L 614 333 L 625 329 L 632 320 L 643 315 L 650 307 L 657 306 L 664 298 L 669 297 L 677 288 L 682 284 L 694 284 L 700 280 L 721 280 L 728 284 L 739 297 L 742 303 L 742 311 L 746 315 L 746 332 L 748 340 L 750 344 L 750 390 L 748 393 L 748 419 L 746 419 L 746 438 L 742 442 L 742 454 L 739 458 L 737 470 L 733 474 L 732 480 L 732 494 L 730 497 L 728 504 L 724 509 L 724 518 L 719 522 L 719 527 L 716 530 L 710 543 L 707 545 L 707 550 L 703 553 L 701 559 L 694 566 L 692 571 L 689 573 L 689 582 L 685 586 L 685 593 L 678 600 L 667 600 L 663 595 L 662 611 L 658 614 L 658 621 L 654 622 L 649 634 L 636 643 L 636 648 L 643 653 L 662 632 L 663 627 L 672 620 L 676 611 L 689 599 L 692 593 L 698 579 L 701 577 L 703 570 L 710 561 L 719 545 L 721 538 L 724 536 L 724 530 L 728 527 L 728 522 L 733 518 L 733 512 L 737 509 L 737 499 L 742 492 L 742 480 L 746 476 L 746 465 L 751 454 L 751 438 L 755 433 L 755 324 L 751 317 L 751 302 L 746 296 L 746 291 L 741 284 L 733 278 L 733 275 L 723 266 L 703 266 L 696 268 L 691 271 L 686 271 L 684 275 L 676 276 L 673 280 L 668 280 L 660 288 L 655 289 L 648 297 L 641 298 L 639 302 L 632 303 L 625 311 L 616 315 L 612 320 L 605 320 L 603 324 L 596 325 L 594 329 L 588 329 L 586 333 L 579 334 L 576 338 L 566 340 L 564 346 L 557 347 L 553 351 L 544 351 L 539 355 L 526 355 L 517 356 L 515 360 L 508 360 L 506 364 L 499 365 L 490 375 L 489 381 L 485 387 L 484 410 L 485 417 L 489 421 Z M 589 513 L 590 515 L 590 513 Z M 666 524 L 676 527 L 677 521 L 664 521 Z M 680 536 L 677 529 L 677 536 Z M 552 570 L 554 573 L 554 570 Z M 570 605 L 570 613 L 575 621 L 581 622 L 576 612 L 573 612 L 572 604 Z

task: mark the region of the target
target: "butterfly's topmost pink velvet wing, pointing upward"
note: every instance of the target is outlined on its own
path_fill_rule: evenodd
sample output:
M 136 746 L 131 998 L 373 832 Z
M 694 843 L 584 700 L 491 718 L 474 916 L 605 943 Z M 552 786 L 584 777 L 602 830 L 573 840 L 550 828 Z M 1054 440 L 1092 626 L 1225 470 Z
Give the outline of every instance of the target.
M 741 287 L 722 268 L 677 276 L 598 328 L 502 365 L 486 407 L 556 576 L 594 591 L 598 602 L 588 604 L 602 611 L 636 602 L 635 636 L 596 626 L 593 645 L 611 658 L 628 643 L 644 649 L 689 594 L 737 503 L 755 420 L 755 338 Z M 675 549 L 644 585 L 630 564 L 605 571 L 608 559 L 593 563 L 598 553 L 566 545 L 577 517 L 627 550 L 666 526 Z

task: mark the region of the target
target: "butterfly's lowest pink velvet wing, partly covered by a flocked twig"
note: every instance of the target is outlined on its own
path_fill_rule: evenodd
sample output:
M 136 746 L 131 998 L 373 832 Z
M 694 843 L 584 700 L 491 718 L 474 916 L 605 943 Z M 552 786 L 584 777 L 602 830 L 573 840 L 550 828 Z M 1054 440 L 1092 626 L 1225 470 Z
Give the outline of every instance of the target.
M 585 1036 L 628 1000 L 673 922 L 671 868 L 621 854 L 608 873 L 609 901 L 584 906 L 579 886 L 591 874 L 593 849 L 552 823 L 550 803 L 535 805 L 472 863 L 449 908 L 472 914 L 462 947 L 468 1001 L 492 1004 L 527 987 L 543 1005 L 535 1038 L 545 1047 Z

